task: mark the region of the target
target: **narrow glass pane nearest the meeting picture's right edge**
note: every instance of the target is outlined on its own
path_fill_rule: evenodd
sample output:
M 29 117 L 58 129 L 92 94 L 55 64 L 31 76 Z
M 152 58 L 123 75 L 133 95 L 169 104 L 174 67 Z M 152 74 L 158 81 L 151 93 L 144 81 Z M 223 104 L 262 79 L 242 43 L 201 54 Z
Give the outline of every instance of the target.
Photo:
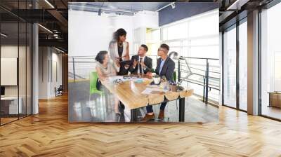
M 223 34 L 224 104 L 236 108 L 236 29 Z

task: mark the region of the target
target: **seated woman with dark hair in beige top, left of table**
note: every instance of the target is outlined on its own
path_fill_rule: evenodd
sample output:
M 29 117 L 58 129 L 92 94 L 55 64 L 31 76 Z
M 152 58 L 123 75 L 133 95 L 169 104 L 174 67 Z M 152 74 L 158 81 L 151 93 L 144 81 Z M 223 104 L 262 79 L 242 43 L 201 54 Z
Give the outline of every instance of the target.
M 120 67 L 120 64 L 117 64 L 115 67 L 112 62 L 110 62 L 110 57 L 106 50 L 102 50 L 96 55 L 95 59 L 98 63 L 96 64 L 96 71 L 98 73 L 98 78 L 101 81 L 105 81 L 107 77 L 116 76 L 117 67 Z M 119 114 L 119 100 L 115 97 L 115 114 Z

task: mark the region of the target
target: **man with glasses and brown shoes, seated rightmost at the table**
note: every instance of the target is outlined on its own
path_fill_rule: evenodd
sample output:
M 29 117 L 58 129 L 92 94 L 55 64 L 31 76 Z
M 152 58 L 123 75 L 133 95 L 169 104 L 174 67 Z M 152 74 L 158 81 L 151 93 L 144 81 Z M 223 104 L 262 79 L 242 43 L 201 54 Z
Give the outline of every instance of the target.
M 157 55 L 160 56 L 157 59 L 157 67 L 155 69 L 155 73 L 160 76 L 165 76 L 168 81 L 173 80 L 173 74 L 175 70 L 175 62 L 171 60 L 171 58 L 168 56 L 169 53 L 169 46 L 163 43 L 159 48 Z M 162 102 L 160 111 L 158 114 L 159 120 L 164 120 L 164 109 L 166 107 L 166 102 Z M 146 107 L 147 114 L 145 114 L 145 117 L 141 119 L 142 122 L 148 122 L 155 118 L 152 105 L 148 105 Z

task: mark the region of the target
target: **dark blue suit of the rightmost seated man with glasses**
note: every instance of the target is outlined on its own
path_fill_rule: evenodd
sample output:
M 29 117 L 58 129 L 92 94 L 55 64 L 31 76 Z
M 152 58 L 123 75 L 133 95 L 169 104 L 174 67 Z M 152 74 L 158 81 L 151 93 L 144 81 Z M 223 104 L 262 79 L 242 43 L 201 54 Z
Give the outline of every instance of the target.
M 161 62 L 162 62 L 162 58 L 160 57 L 157 59 L 157 67 L 155 69 L 155 73 L 158 74 L 159 76 L 165 76 L 168 81 L 174 80 L 173 74 L 175 70 L 175 62 L 171 60 L 170 57 L 166 57 L 162 69 L 161 69 Z M 164 111 L 165 107 L 166 107 L 166 102 L 162 102 L 160 106 L 160 110 Z M 153 112 L 152 105 L 148 105 L 146 107 L 146 111 L 148 113 Z

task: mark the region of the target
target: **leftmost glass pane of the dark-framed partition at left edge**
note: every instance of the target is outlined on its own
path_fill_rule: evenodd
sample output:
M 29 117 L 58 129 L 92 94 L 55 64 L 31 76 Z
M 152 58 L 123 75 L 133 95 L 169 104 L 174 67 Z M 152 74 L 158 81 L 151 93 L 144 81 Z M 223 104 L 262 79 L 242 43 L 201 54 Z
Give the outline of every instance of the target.
M 18 22 L 1 23 L 1 125 L 18 119 Z

